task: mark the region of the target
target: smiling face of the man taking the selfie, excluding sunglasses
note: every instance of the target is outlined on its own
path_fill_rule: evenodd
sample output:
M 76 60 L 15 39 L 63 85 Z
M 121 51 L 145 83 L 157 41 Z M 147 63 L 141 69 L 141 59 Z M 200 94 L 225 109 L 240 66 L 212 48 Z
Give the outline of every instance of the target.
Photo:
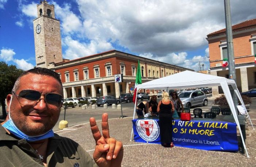
M 40 93 L 57 93 L 62 94 L 60 83 L 53 77 L 28 73 L 20 78 L 18 90 L 16 95 L 24 89 L 37 90 Z M 9 96 L 9 98 L 8 98 Z M 7 100 L 10 99 L 10 95 Z M 27 135 L 44 134 L 57 123 L 60 116 L 60 108 L 52 109 L 47 104 L 45 94 L 41 95 L 39 101 L 30 106 L 23 106 L 19 103 L 17 97 L 12 95 L 12 103 L 9 114 L 15 125 Z M 8 106 L 9 106 L 8 101 Z

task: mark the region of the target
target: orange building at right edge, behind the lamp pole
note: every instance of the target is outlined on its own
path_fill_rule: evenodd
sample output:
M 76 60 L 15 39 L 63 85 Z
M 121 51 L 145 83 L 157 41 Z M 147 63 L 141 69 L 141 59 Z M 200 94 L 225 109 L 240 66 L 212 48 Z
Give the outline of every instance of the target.
M 232 26 L 236 83 L 239 91 L 248 91 L 256 86 L 256 19 L 247 20 Z M 209 42 L 211 75 L 229 78 L 228 66 L 222 67 L 223 59 L 228 58 L 226 29 L 207 35 Z M 213 96 L 222 93 L 213 87 Z

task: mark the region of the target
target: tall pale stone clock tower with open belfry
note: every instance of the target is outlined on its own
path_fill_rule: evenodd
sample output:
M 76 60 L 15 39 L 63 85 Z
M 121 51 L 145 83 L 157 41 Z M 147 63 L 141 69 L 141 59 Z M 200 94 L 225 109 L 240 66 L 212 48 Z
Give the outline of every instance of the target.
M 60 21 L 55 19 L 54 5 L 46 0 L 40 3 L 33 20 L 35 62 L 37 67 L 50 68 L 49 63 L 62 61 Z

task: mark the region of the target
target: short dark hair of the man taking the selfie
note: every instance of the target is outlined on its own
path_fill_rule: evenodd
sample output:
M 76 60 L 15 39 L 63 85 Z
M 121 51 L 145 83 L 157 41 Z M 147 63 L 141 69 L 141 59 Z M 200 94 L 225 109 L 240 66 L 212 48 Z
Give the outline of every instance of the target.
M 62 87 L 60 74 L 54 72 L 53 70 L 47 69 L 47 68 L 37 67 L 37 68 L 33 68 L 33 69 L 30 69 L 30 70 L 24 71 L 22 74 L 20 74 L 18 79 L 15 81 L 15 84 L 14 84 L 14 87 L 12 88 L 12 91 L 16 92 L 18 90 L 19 85 L 20 85 L 20 78 L 27 75 L 28 73 L 53 77 L 60 83 L 60 85 Z

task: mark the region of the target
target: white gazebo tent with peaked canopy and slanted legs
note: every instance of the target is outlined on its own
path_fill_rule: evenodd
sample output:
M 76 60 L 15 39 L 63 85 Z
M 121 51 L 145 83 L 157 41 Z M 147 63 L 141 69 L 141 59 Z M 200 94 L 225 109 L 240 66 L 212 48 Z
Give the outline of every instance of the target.
M 234 116 L 234 120 L 237 124 L 239 131 L 240 131 L 240 135 L 242 138 L 242 144 L 244 145 L 247 157 L 249 157 L 247 148 L 245 146 L 244 138 L 242 136 L 242 131 L 239 126 L 239 122 L 238 122 L 238 118 L 237 118 L 237 113 L 236 113 L 236 108 L 235 108 L 237 105 L 234 105 L 234 103 L 233 103 L 232 95 L 230 93 L 228 85 L 231 85 L 233 87 L 238 99 L 242 103 L 242 106 L 244 107 L 244 109 L 247 113 L 247 110 L 245 108 L 244 102 L 242 101 L 242 97 L 237 89 L 235 81 L 229 80 L 225 77 L 213 76 L 213 75 L 209 75 L 209 74 L 202 74 L 202 73 L 197 73 L 197 72 L 192 72 L 192 71 L 186 70 L 184 72 L 176 73 L 176 74 L 173 74 L 173 75 L 170 75 L 167 77 L 158 78 L 156 80 L 142 83 L 137 86 L 137 90 L 139 90 L 139 89 L 155 89 L 155 90 L 167 90 L 167 92 L 168 92 L 170 89 L 178 89 L 178 88 L 221 86 L 223 89 L 223 92 L 226 96 L 226 99 L 228 101 L 231 112 Z M 135 110 L 136 110 L 136 104 L 134 106 L 133 119 L 135 117 Z M 248 113 L 247 113 L 247 115 L 248 115 Z M 248 115 L 248 118 L 251 122 L 249 115 Z M 251 125 L 252 125 L 252 122 L 251 122 Z M 252 125 L 252 127 L 253 127 L 253 125 Z M 254 127 L 253 127 L 253 129 L 254 129 Z M 133 130 L 131 131 L 131 138 L 132 138 L 132 133 L 133 133 Z

